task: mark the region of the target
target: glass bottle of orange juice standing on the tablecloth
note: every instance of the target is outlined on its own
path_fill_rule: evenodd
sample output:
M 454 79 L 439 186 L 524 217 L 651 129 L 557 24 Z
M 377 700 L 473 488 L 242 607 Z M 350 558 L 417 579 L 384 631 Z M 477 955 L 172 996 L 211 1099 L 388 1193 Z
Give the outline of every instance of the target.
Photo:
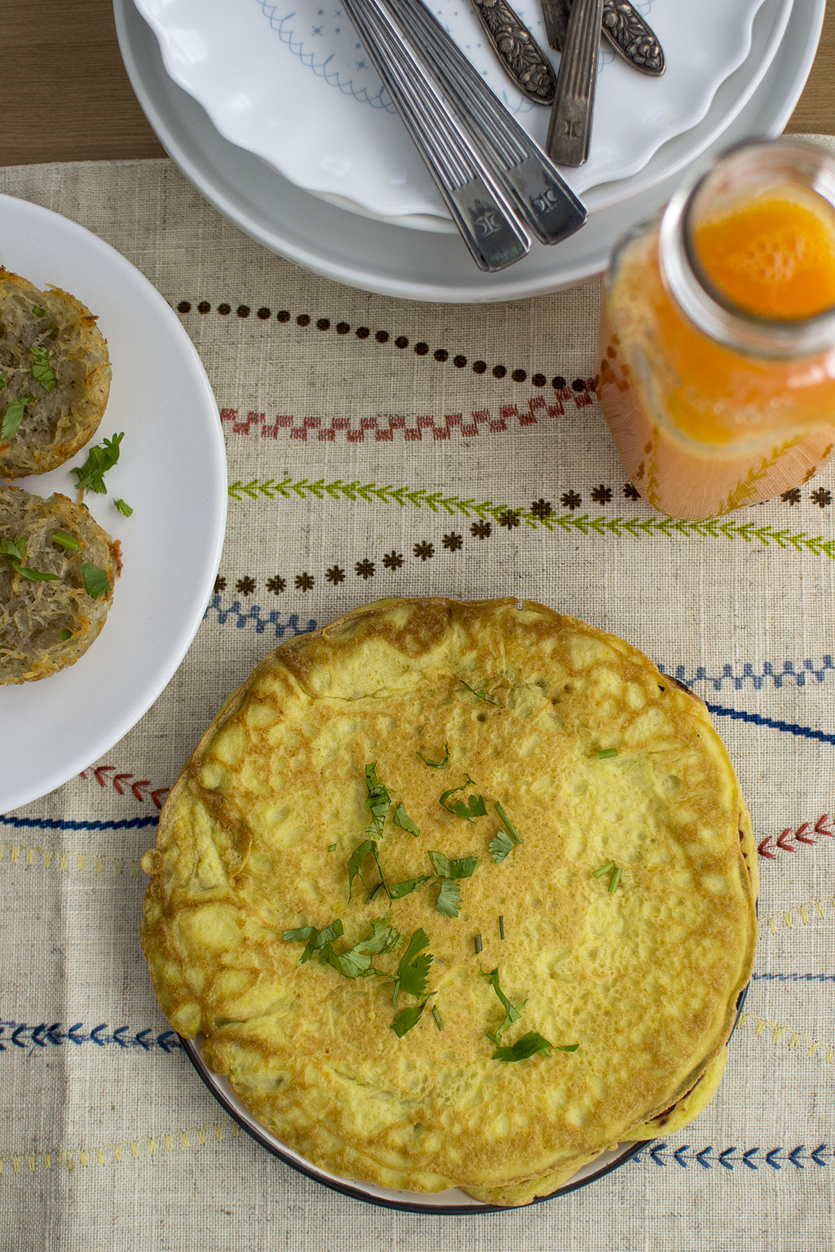
M 741 144 L 616 248 L 598 399 L 656 508 L 704 518 L 835 449 L 835 160 Z

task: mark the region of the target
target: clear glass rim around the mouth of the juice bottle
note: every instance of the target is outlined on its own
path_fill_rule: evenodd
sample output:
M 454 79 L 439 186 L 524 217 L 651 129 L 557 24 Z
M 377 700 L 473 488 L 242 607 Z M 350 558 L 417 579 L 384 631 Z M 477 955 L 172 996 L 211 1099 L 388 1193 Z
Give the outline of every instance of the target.
M 835 305 L 791 319 L 741 308 L 706 273 L 694 234 L 706 204 L 780 188 L 819 197 L 831 209 L 835 225 L 835 160 L 797 139 L 745 140 L 719 162 L 697 165 L 661 218 L 661 273 L 676 303 L 710 338 L 756 357 L 811 356 L 835 348 Z

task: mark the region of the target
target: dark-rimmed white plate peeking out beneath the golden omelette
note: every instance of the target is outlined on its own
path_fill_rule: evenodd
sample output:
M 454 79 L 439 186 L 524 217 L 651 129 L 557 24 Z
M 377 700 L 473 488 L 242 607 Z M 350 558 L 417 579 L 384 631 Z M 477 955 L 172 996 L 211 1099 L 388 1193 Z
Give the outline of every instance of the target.
M 199 1038 L 198 1035 L 198 1040 Z M 498 1213 L 508 1211 L 502 1206 L 484 1204 L 479 1199 L 473 1199 L 472 1196 L 468 1196 L 458 1187 L 439 1192 L 396 1191 L 393 1187 L 381 1187 L 372 1182 L 339 1178 L 337 1174 L 328 1173 L 327 1169 L 320 1169 L 318 1166 L 310 1164 L 309 1161 L 292 1148 L 288 1148 L 272 1131 L 268 1131 L 262 1122 L 253 1117 L 247 1106 L 235 1096 L 227 1078 L 209 1069 L 203 1059 L 198 1042 L 180 1038 L 180 1043 L 198 1074 L 229 1117 L 234 1118 L 247 1134 L 250 1134 L 257 1143 L 260 1143 L 263 1148 L 272 1152 L 274 1157 L 278 1157 L 293 1169 L 298 1169 L 299 1173 L 307 1174 L 308 1178 L 313 1178 L 314 1182 L 320 1182 L 324 1187 L 342 1192 L 343 1196 L 351 1196 L 353 1199 L 364 1199 L 367 1203 L 377 1204 L 381 1208 L 398 1208 L 407 1213 Z M 578 1169 L 573 1178 L 570 1178 L 562 1187 L 557 1187 L 550 1196 L 535 1199 L 533 1203 L 542 1204 L 547 1199 L 556 1199 L 557 1196 L 567 1196 L 571 1191 L 586 1187 L 596 1178 L 602 1178 L 605 1174 L 611 1173 L 612 1169 L 617 1169 L 618 1166 L 625 1164 L 633 1157 L 636 1152 L 646 1147 L 648 1147 L 646 1141 L 618 1143 L 616 1148 L 601 1152 L 592 1162 Z

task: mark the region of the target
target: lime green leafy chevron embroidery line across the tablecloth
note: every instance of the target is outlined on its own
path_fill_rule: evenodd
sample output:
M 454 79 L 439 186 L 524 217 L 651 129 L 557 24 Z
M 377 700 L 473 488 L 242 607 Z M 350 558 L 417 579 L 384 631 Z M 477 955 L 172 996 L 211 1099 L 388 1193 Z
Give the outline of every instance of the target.
M 358 480 L 344 482 L 342 478 L 336 478 L 333 482 L 325 482 L 324 478 L 318 478 L 315 482 L 310 482 L 308 478 L 298 481 L 283 478 L 280 482 L 275 478 L 263 481 L 252 478 L 249 482 L 233 482 L 229 486 L 229 496 L 239 502 L 245 498 L 275 500 L 279 497 L 290 500 L 293 496 L 298 500 L 308 500 L 312 496 L 315 500 L 329 498 L 338 503 L 346 501 L 356 503 L 362 500 L 368 505 L 396 503 L 401 508 L 412 505 L 413 508 L 428 508 L 433 513 L 443 511 L 448 515 L 461 513 L 468 518 L 492 518 L 499 525 L 510 522 L 510 526 L 525 523 L 532 530 L 543 527 L 547 531 L 557 533 L 562 531 L 566 535 L 613 535 L 616 538 L 628 535 L 633 540 L 657 535 L 669 540 L 725 538 L 734 541 L 741 538 L 746 543 L 756 542 L 764 547 L 776 543 L 780 548 L 794 548 L 795 552 L 806 551 L 811 552 L 812 556 L 827 556 L 830 560 L 835 560 L 835 538 L 826 540 L 822 535 L 806 535 L 805 531 L 792 535 L 787 530 L 776 531 L 772 526 L 735 522 L 727 517 L 711 517 L 697 522 L 665 517 L 662 513 L 646 517 L 643 521 L 637 517 L 628 520 L 606 517 L 605 513 L 600 513 L 597 517 L 590 517 L 588 513 L 582 513 L 578 517 L 575 517 L 573 513 L 563 513 L 561 517 L 552 515 L 540 517 L 531 510 L 494 505 L 489 500 L 477 502 L 472 498 L 462 500 L 459 496 L 446 496 L 442 491 L 428 492 L 423 487 L 393 487 L 391 483 L 378 487 L 376 482 L 361 483 Z

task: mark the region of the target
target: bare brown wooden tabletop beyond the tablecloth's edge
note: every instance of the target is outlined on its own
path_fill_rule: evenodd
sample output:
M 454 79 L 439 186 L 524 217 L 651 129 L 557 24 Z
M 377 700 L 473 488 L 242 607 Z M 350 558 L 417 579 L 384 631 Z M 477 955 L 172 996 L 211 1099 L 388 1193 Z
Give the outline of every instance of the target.
M 0 165 L 164 155 L 124 71 L 109 0 L 0 0 Z M 835 134 L 835 5 L 786 131 Z

